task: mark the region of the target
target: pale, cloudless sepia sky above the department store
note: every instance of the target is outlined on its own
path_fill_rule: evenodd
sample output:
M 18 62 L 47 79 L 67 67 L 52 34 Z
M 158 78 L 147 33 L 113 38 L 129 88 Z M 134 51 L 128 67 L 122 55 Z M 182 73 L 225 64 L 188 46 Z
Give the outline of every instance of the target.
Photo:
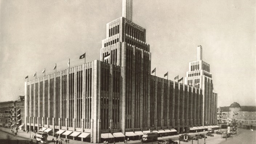
M 210 64 L 217 107 L 256 106 L 255 0 L 133 0 L 132 21 L 146 29 L 151 70 L 185 77 L 197 45 Z M 0 101 L 24 95 L 35 79 L 100 59 L 106 24 L 122 16 L 121 0 L 1 0 Z

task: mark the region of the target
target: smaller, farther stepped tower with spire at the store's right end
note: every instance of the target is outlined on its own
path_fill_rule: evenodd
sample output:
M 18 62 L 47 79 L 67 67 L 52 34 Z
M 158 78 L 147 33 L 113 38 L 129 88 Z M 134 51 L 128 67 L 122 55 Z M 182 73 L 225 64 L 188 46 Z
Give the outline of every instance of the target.
M 203 61 L 203 48 L 197 47 L 197 61 L 189 63 L 185 84 L 202 89 L 203 126 L 217 124 L 217 93 L 213 91 L 210 65 Z

